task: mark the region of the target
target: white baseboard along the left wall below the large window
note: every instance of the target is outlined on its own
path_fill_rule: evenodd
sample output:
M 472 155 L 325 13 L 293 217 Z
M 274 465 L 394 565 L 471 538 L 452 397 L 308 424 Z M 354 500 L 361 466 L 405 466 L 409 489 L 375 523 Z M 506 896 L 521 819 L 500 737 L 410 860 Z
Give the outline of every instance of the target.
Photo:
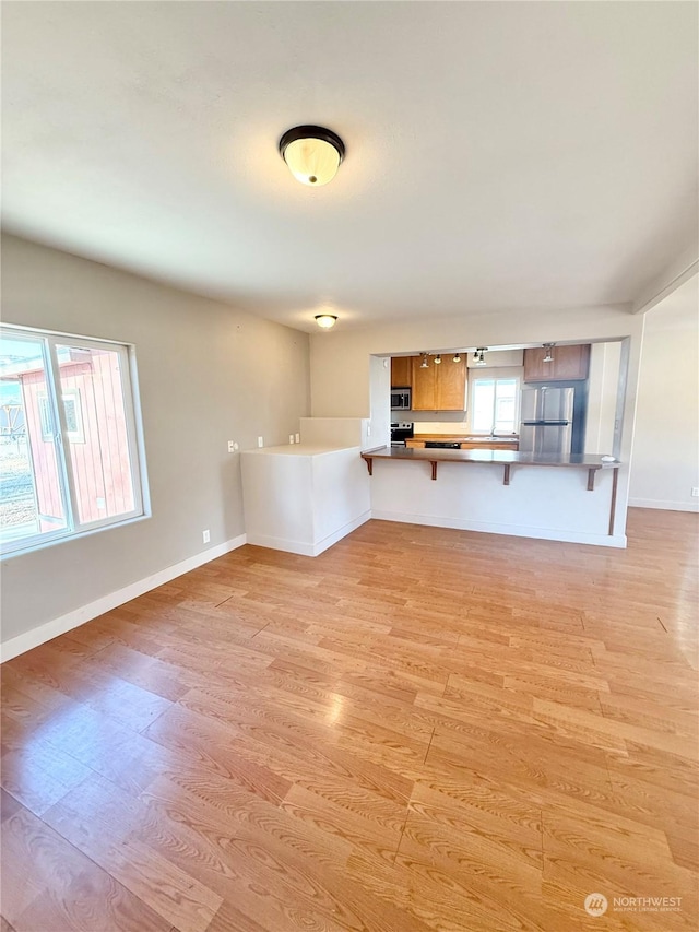
M 237 538 L 233 538 L 223 544 L 217 544 L 215 547 L 210 547 L 194 554 L 194 556 L 190 556 L 181 561 L 181 563 L 176 563 L 173 566 L 161 569 L 152 576 L 146 576 L 144 579 L 139 579 L 137 582 L 125 586 L 123 589 L 109 592 L 108 595 L 103 595 L 87 605 L 81 605 L 80 609 L 75 609 L 73 612 L 68 612 L 66 615 L 60 615 L 58 618 L 52 618 L 44 625 L 17 635 L 0 645 L 0 663 L 4 663 L 5 660 L 12 660 L 13 657 L 19 657 L 34 647 L 46 644 L 47 640 L 52 640 L 52 638 L 66 634 L 66 632 L 78 628 L 84 625 L 85 622 L 90 622 L 98 615 L 104 615 L 105 612 L 110 612 L 112 609 L 123 605 L 125 602 L 130 602 L 131 599 L 143 595 L 144 592 L 157 589 L 158 586 L 163 586 L 165 582 L 169 582 L 171 579 L 176 579 L 191 569 L 197 569 L 198 566 L 203 566 L 203 564 L 216 559 L 216 557 L 230 553 L 230 551 L 237 550 L 245 543 L 246 535 L 239 534 Z

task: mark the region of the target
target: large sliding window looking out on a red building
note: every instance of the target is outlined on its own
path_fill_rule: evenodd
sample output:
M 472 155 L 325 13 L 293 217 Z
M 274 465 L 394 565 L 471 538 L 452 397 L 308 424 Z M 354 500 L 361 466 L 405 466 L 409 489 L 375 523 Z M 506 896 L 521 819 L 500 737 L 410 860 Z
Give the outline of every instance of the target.
M 144 514 L 131 352 L 0 328 L 0 542 L 4 553 Z

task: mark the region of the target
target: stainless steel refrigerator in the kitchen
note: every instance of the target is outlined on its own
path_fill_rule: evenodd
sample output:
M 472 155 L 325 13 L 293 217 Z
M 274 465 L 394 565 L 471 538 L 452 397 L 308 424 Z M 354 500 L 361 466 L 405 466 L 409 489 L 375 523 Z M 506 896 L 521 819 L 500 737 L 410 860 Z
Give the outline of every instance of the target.
M 522 390 L 520 452 L 570 453 L 574 394 L 574 388 Z

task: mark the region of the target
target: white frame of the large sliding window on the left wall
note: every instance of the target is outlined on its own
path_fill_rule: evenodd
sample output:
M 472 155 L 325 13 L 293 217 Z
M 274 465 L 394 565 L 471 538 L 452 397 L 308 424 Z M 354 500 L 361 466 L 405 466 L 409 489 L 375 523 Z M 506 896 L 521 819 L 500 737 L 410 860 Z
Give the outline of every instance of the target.
M 56 448 L 56 463 L 60 486 L 60 495 L 66 517 L 66 527 L 56 531 L 31 534 L 20 539 L 2 541 L 1 552 L 4 556 L 16 556 L 34 550 L 59 543 L 66 540 L 91 534 L 106 528 L 130 523 L 134 520 L 150 517 L 150 500 L 145 470 L 145 447 L 143 444 L 143 427 L 138 398 L 135 370 L 135 349 L 130 343 L 119 343 L 114 340 L 95 340 L 74 333 L 58 333 L 56 331 L 38 330 L 29 327 L 19 327 L 3 323 L 0 328 L 8 337 L 22 340 L 40 340 L 48 390 L 49 411 L 55 425 L 52 435 Z M 123 398 L 125 421 L 127 428 L 127 446 L 131 467 L 131 483 L 133 488 L 133 508 L 130 511 L 112 517 L 99 518 L 95 521 L 81 523 L 78 519 L 78 487 L 73 475 L 70 456 L 70 443 L 75 438 L 75 432 L 68 430 L 66 409 L 58 404 L 61 397 L 60 369 L 58 363 L 58 345 L 86 350 L 108 350 L 119 355 L 119 373 L 121 376 L 121 393 Z M 67 389 L 63 394 L 74 394 L 74 389 Z M 78 399 L 80 405 L 80 398 Z M 82 423 L 82 412 L 79 414 Z M 43 433 L 43 432 L 42 432 Z

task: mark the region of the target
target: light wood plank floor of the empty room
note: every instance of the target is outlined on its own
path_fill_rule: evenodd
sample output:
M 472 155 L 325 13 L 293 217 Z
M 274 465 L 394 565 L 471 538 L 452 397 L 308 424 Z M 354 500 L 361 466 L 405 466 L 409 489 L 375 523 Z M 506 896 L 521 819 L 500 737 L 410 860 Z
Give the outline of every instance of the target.
M 629 541 L 245 546 L 4 664 L 2 930 L 696 930 L 697 516 Z

